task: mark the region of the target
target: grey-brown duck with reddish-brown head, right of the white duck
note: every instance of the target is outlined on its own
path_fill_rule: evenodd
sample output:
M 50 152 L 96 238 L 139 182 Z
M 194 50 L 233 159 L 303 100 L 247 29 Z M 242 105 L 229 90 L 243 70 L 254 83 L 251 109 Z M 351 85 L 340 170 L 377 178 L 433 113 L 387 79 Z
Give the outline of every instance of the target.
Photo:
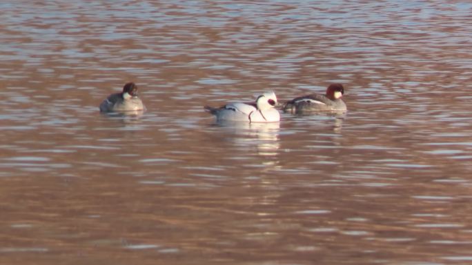
M 299 96 L 282 105 L 284 112 L 302 114 L 305 112 L 346 112 L 346 103 L 341 99 L 344 87 L 333 83 L 326 89 L 326 94 Z

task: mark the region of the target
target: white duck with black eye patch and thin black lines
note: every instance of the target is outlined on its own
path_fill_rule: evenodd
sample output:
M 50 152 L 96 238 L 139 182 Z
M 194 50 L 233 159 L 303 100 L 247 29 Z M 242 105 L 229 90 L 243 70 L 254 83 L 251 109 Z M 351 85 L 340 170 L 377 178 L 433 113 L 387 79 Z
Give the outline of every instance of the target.
M 205 106 L 204 109 L 215 115 L 217 122 L 273 123 L 280 120 L 276 106 L 277 96 L 271 91 L 258 96 L 255 103 L 235 102 L 222 107 Z

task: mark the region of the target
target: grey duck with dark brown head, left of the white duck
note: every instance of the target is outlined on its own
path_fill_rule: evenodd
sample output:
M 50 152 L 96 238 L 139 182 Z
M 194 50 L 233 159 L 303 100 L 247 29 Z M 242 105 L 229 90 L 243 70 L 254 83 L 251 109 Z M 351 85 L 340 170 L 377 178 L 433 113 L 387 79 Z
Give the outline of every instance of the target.
M 144 111 L 144 106 L 137 94 L 135 83 L 126 83 L 123 92 L 111 94 L 100 104 L 100 112 L 135 112 Z

